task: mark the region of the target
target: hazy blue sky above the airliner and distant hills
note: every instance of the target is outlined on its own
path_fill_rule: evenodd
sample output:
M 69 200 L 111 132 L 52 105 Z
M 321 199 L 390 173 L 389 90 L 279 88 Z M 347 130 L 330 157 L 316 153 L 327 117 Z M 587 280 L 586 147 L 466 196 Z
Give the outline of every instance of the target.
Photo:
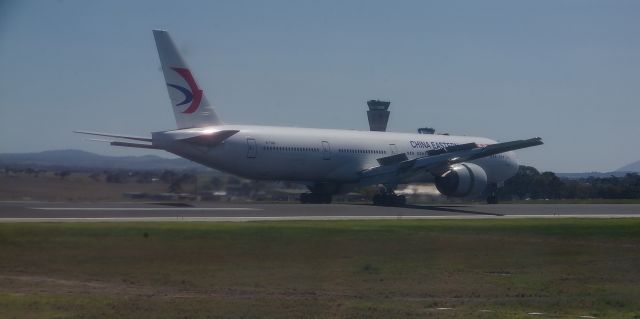
M 2 1 L 0 152 L 83 149 L 74 129 L 175 127 L 151 30 L 225 122 L 541 136 L 524 164 L 640 160 L 639 1 Z

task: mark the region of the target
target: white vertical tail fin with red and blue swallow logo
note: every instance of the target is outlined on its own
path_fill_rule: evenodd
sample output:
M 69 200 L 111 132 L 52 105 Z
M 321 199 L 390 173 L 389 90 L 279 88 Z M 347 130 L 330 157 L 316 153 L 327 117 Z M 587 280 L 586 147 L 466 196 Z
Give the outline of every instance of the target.
M 167 82 L 169 99 L 178 128 L 220 125 L 222 121 L 213 110 L 191 69 L 182 59 L 169 33 L 153 30 L 162 73 Z

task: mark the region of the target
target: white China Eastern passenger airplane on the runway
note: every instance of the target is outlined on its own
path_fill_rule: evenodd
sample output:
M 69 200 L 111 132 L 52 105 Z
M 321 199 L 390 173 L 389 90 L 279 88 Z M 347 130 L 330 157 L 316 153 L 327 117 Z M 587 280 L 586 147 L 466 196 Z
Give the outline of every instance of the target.
M 164 150 L 254 180 L 306 185 L 302 203 L 330 203 L 335 194 L 380 186 L 373 204 L 402 206 L 398 185 L 435 183 L 447 197 L 486 196 L 518 171 L 514 150 L 539 137 L 498 143 L 484 137 L 227 124 L 216 113 L 169 33 L 153 30 L 177 129 L 151 137 L 88 131 L 113 146 Z

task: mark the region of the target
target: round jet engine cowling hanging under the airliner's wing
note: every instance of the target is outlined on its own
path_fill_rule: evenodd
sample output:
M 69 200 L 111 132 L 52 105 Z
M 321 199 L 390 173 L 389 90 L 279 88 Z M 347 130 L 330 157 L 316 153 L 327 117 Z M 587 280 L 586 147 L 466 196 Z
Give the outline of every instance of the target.
M 438 191 L 450 197 L 476 197 L 487 187 L 487 173 L 473 163 L 454 164 L 436 177 Z

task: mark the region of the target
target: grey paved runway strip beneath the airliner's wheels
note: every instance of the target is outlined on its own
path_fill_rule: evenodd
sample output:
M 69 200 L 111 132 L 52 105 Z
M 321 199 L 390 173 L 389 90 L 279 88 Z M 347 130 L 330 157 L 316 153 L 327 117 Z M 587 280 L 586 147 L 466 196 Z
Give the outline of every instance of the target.
M 640 217 L 640 204 L 365 204 L 0 202 L 0 222 L 24 221 L 251 221 L 334 219 Z

